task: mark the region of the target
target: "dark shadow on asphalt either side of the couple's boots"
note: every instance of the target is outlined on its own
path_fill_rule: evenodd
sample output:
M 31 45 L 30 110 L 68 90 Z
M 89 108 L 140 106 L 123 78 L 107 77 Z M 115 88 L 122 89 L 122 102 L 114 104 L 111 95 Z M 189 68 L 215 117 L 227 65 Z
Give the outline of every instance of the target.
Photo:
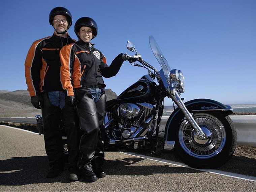
M 105 160 L 108 175 L 152 175 L 155 173 L 196 173 L 198 170 L 169 165 L 139 165 L 141 158 Z M 0 185 L 19 186 L 35 183 L 69 183 L 69 172 L 65 169 L 58 177 L 45 178 L 48 170 L 46 156 L 12 157 L 0 161 Z

